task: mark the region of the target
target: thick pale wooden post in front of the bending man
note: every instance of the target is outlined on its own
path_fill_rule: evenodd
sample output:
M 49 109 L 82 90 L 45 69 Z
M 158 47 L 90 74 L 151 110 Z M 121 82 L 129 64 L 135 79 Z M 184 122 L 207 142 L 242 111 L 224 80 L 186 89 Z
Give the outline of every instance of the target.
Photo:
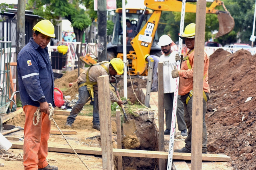
M 98 77 L 99 122 L 103 170 L 114 170 L 109 76 Z

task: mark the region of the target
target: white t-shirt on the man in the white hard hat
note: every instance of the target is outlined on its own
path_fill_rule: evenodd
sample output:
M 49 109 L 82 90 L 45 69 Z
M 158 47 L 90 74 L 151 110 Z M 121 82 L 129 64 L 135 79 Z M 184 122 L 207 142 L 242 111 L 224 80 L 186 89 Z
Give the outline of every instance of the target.
M 172 51 L 169 55 L 161 55 L 159 62 L 163 63 L 163 93 L 174 93 L 175 91 L 175 79 L 172 78 L 172 70 L 174 66 L 177 66 L 175 61 L 175 55 L 177 51 Z

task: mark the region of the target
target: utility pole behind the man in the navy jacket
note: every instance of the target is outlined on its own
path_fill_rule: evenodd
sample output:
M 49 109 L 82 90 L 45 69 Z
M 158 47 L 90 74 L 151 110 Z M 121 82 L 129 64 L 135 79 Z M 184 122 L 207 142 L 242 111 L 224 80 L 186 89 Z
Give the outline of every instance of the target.
M 26 0 L 18 0 L 17 26 L 16 26 L 16 57 L 25 46 L 25 6 Z M 19 90 L 18 72 L 16 72 L 16 91 Z M 20 101 L 19 93 L 16 93 L 16 103 Z

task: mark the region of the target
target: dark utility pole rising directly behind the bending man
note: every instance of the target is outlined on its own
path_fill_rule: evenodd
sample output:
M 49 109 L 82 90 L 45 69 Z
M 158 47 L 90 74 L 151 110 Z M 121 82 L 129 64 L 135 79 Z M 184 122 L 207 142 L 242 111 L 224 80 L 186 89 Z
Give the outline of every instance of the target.
M 107 61 L 107 1 L 98 0 L 98 62 Z

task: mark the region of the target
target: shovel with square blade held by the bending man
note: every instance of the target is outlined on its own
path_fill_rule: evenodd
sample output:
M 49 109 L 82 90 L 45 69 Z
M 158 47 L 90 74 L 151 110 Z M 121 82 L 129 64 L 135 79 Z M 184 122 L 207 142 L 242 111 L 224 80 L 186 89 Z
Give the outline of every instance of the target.
M 116 77 L 115 77 L 115 80 L 116 80 Z M 116 95 L 118 97 L 119 100 L 121 100 L 120 96 L 119 96 L 119 93 L 118 93 L 118 90 L 116 88 L 116 85 L 117 85 L 117 81 L 116 81 L 116 85 L 114 86 L 111 82 L 110 84 L 113 86 L 113 88 L 115 89 L 116 91 Z M 135 125 L 135 121 L 134 119 L 132 120 L 129 120 L 126 113 L 125 113 L 125 110 L 124 110 L 124 105 L 122 104 L 121 105 L 121 108 L 122 108 L 122 111 L 124 113 L 124 117 L 126 119 L 126 122 L 123 123 L 123 130 L 124 130 L 124 135 L 130 135 L 130 134 L 133 134 L 135 132 L 137 132 L 137 128 L 136 128 L 136 125 Z

